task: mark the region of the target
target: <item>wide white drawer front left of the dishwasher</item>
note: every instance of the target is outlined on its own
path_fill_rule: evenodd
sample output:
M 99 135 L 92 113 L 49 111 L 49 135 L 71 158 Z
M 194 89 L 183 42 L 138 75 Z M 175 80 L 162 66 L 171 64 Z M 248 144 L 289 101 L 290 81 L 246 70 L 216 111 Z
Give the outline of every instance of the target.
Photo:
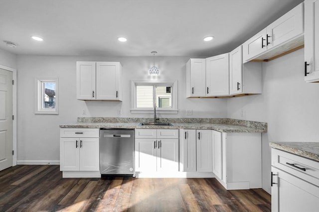
M 98 128 L 61 128 L 60 137 L 98 138 L 100 137 L 100 131 Z

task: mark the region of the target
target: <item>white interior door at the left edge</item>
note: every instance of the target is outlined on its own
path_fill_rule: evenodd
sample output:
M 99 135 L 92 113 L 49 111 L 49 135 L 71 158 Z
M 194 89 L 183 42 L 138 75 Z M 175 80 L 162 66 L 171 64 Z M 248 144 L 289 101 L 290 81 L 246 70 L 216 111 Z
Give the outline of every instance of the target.
M 12 166 L 12 72 L 0 69 L 0 171 Z

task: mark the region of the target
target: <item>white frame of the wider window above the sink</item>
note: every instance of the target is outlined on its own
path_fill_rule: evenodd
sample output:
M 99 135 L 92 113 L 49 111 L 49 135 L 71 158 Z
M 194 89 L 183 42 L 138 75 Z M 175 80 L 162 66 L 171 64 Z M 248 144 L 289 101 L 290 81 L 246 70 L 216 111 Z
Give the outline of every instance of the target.
M 156 112 L 157 114 L 177 114 L 178 113 L 178 107 L 177 107 L 177 81 L 136 81 L 132 80 L 131 81 L 131 113 L 144 113 L 144 114 L 153 114 L 154 113 L 154 108 L 137 108 L 137 102 L 136 102 L 136 86 L 171 86 L 171 105 L 172 107 L 157 107 Z

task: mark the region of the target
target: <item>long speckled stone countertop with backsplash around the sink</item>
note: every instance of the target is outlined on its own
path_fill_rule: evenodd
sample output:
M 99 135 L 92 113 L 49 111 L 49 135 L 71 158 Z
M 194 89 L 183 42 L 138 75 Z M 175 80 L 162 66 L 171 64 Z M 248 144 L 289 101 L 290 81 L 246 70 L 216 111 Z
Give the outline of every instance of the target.
M 267 123 L 229 118 L 161 118 L 171 126 L 141 125 L 152 118 L 78 118 L 75 124 L 61 124 L 61 128 L 137 128 L 137 129 L 213 129 L 220 132 L 267 132 Z

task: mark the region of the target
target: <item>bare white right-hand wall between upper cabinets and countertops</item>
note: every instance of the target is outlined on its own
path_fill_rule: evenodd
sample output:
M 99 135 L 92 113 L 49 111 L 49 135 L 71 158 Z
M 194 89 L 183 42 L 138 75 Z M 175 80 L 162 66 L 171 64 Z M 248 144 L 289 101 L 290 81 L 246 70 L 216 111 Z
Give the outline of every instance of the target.
M 263 63 L 263 94 L 229 99 L 228 117 L 268 123 L 263 189 L 270 193 L 269 141 L 319 141 L 319 84 L 304 81 L 304 49 Z M 240 110 L 244 109 L 244 117 Z

